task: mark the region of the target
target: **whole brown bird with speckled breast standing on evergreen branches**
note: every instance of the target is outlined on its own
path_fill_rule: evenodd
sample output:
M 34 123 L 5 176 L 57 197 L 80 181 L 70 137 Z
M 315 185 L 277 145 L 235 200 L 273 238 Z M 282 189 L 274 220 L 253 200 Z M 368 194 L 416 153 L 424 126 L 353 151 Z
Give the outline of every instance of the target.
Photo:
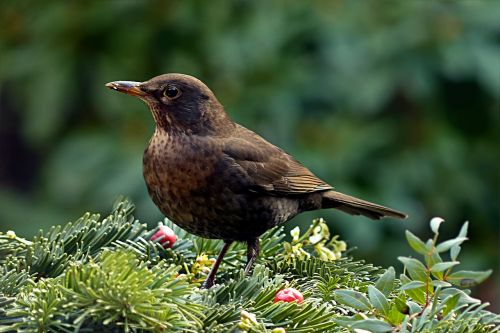
M 142 99 L 153 114 L 156 129 L 143 172 L 154 203 L 190 233 L 224 240 L 205 288 L 213 285 L 232 242 L 248 244 L 248 273 L 259 236 L 301 212 L 336 208 L 372 219 L 406 218 L 335 191 L 285 151 L 231 121 L 214 93 L 192 76 L 164 74 L 106 86 Z

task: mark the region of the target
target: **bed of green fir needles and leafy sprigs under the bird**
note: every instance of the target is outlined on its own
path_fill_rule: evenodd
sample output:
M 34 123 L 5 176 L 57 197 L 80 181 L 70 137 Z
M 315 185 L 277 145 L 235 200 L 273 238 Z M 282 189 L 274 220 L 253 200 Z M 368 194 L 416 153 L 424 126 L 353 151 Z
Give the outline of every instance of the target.
M 40 232 L 32 240 L 0 233 L 0 332 L 497 332 L 500 317 L 464 288 L 491 271 L 458 270 L 468 224 L 451 240 L 421 241 L 406 233 L 423 257 L 399 257 L 405 271 L 382 270 L 344 257 L 345 243 L 323 220 L 303 234 L 282 228 L 261 237 L 253 272 L 242 270 L 244 244 L 235 244 L 217 284 L 201 290 L 219 240 L 177 235 L 172 248 L 151 241 L 157 229 L 135 221 L 118 202 L 97 214 Z M 446 260 L 443 255 L 448 252 Z M 274 302 L 294 287 L 304 301 Z

